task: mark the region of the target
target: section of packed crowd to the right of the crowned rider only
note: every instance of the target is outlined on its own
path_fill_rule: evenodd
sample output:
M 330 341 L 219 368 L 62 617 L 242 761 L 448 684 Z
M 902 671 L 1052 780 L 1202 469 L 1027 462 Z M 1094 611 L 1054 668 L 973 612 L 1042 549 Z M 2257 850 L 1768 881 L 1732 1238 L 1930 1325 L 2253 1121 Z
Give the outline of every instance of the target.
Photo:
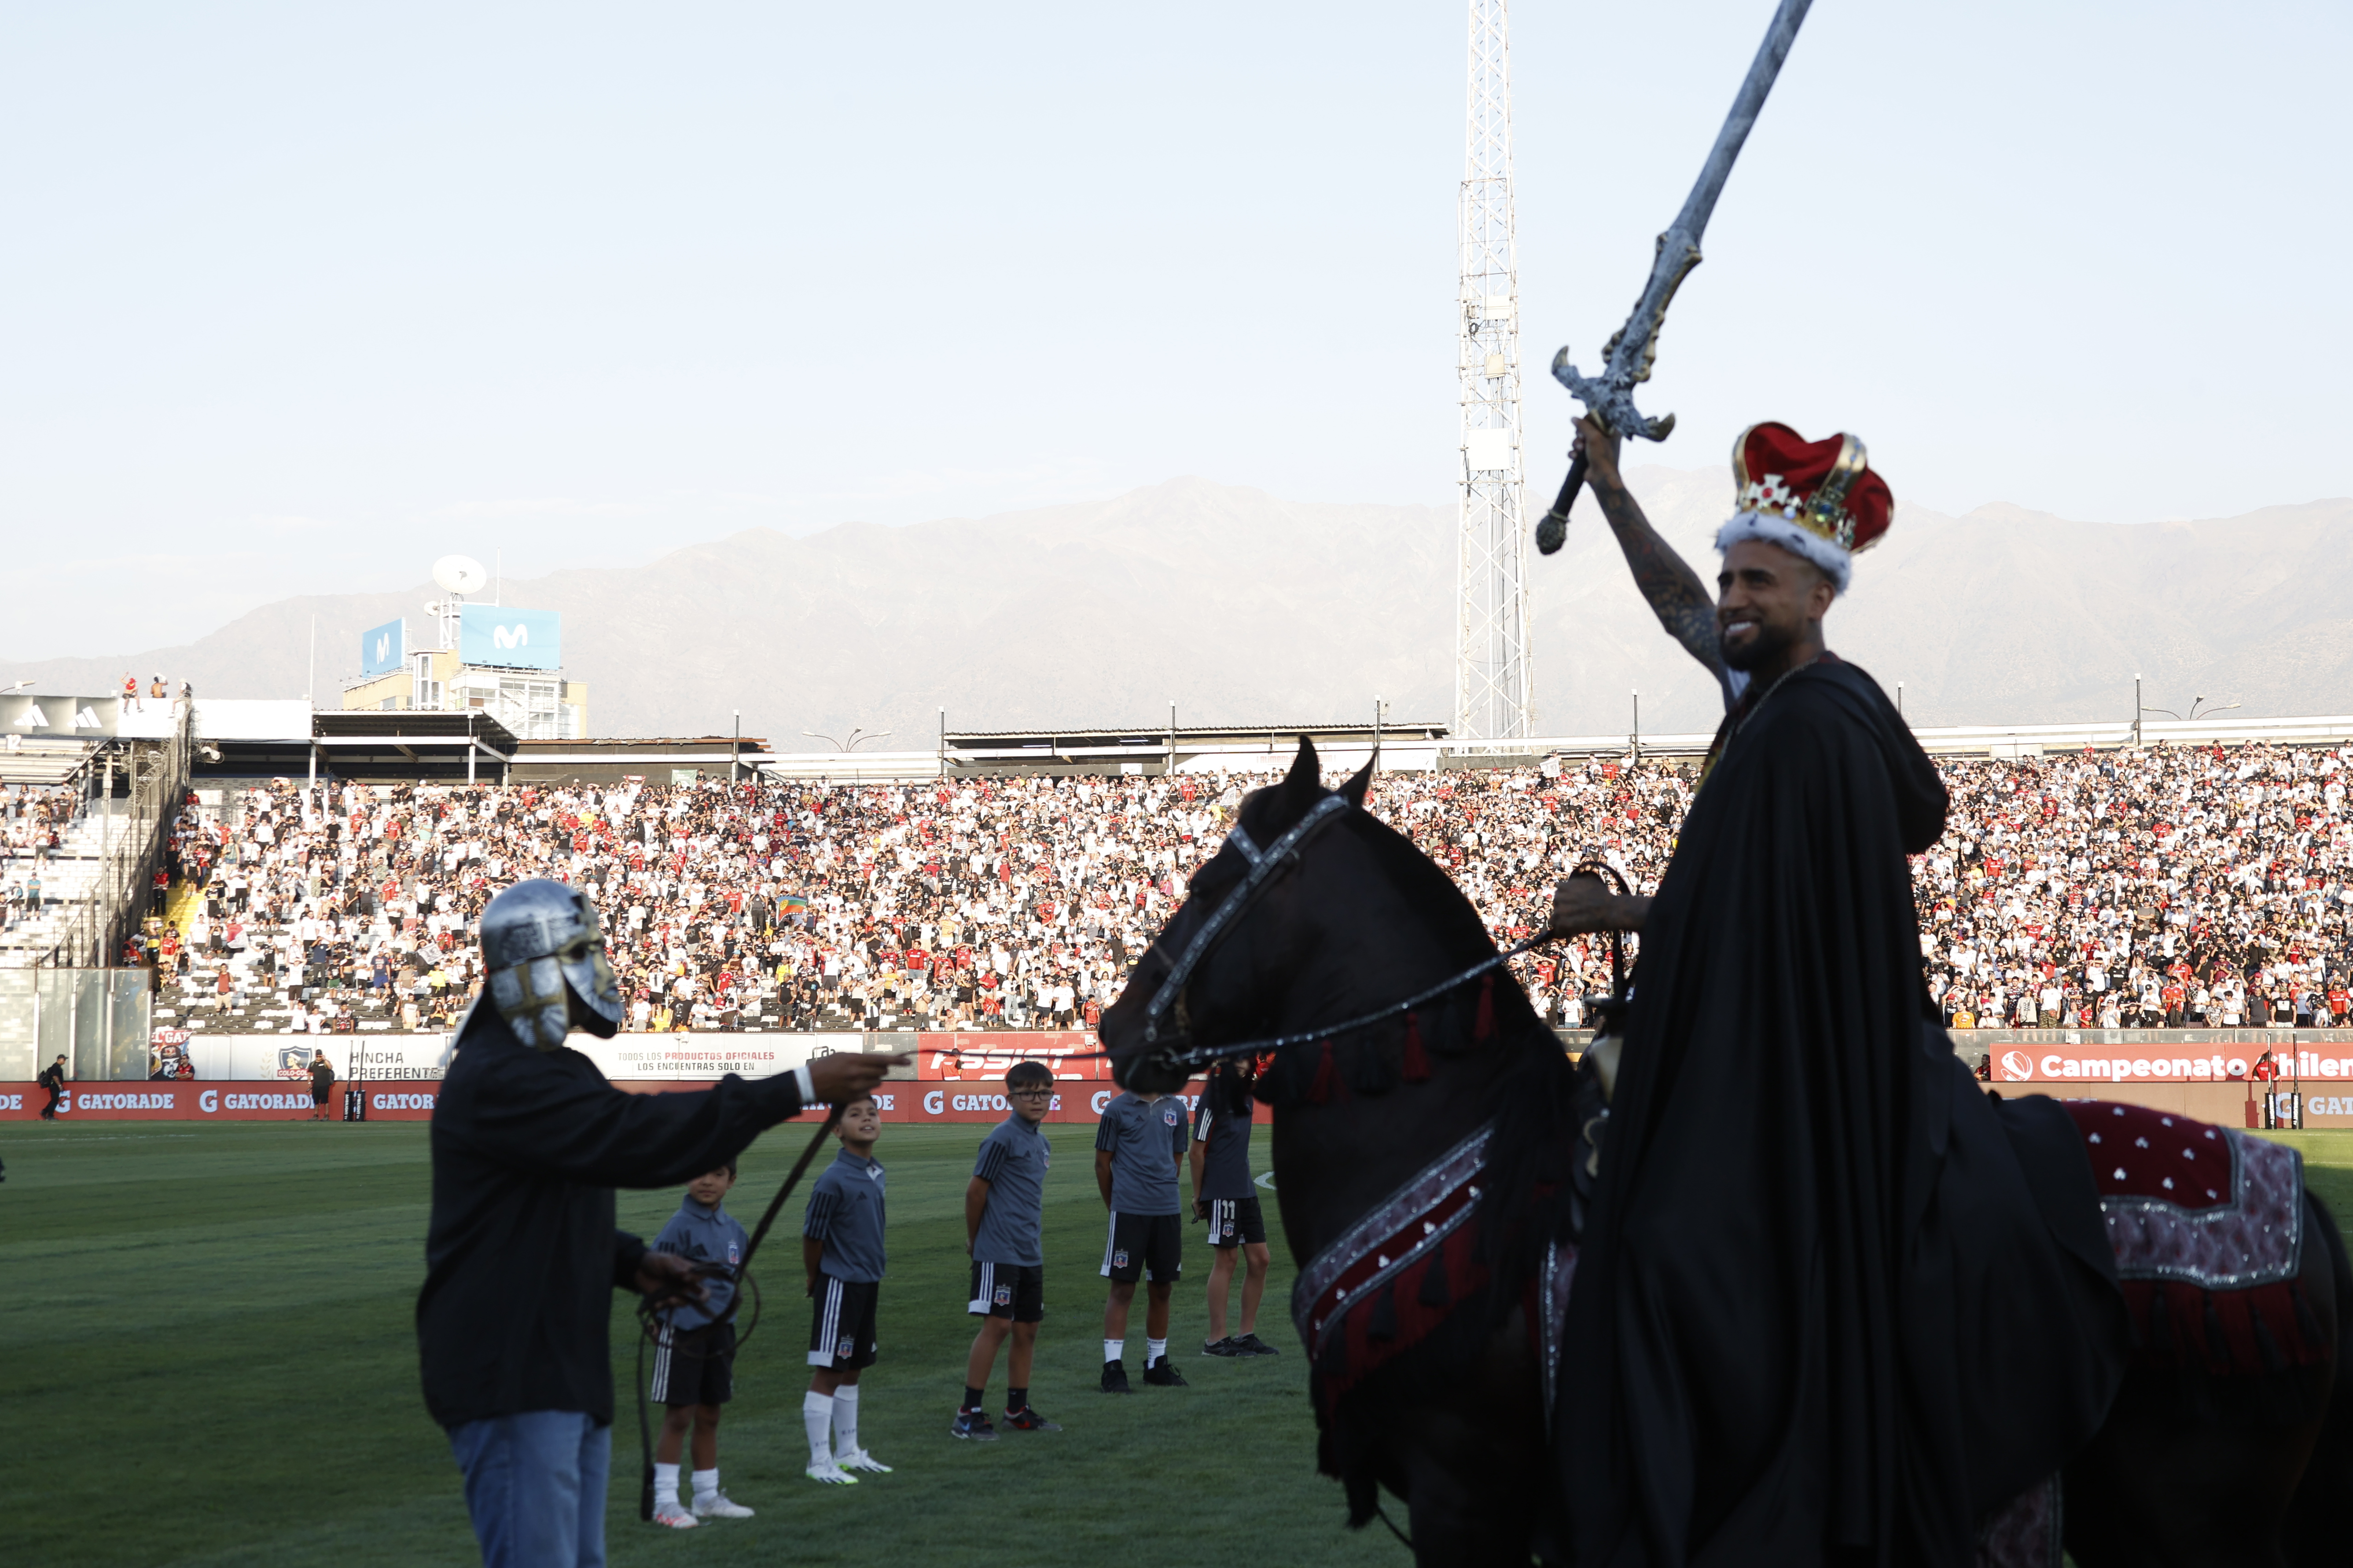
M 1955 1027 L 2346 1020 L 2353 823 L 2318 748 L 2160 748 L 1944 766 L 1915 860 Z

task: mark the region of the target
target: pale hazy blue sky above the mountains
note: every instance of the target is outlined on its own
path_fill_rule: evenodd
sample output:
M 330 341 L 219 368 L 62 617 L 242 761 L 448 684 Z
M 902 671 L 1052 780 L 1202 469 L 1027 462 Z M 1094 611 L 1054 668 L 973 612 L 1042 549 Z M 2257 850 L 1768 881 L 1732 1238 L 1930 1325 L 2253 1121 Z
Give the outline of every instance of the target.
M 1513 14 L 1529 489 L 1767 0 Z M 2353 491 L 2344 5 L 1819 0 L 1640 456 Z M 1445 501 L 1464 7 L 0 7 L 0 656 L 1198 473 Z M 5 675 L 5 670 L 0 670 Z

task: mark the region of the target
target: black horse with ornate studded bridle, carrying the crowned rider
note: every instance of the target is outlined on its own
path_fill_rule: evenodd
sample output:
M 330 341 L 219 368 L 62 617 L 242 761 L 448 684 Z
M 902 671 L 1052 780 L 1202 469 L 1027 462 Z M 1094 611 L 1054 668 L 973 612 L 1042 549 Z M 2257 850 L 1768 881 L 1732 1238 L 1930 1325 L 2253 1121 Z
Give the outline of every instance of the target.
M 1421 1563 L 1558 1563 L 1548 1392 L 1553 1359 L 1577 1349 L 1551 1331 L 1600 1086 L 1497 966 L 1454 882 L 1362 811 L 1365 785 L 1327 792 L 1301 741 L 1101 1037 L 1141 1091 L 1179 1088 L 1219 1048 L 1280 1041 L 1242 1060 L 1264 1063 L 1257 1095 L 1275 1112 L 1318 1467 L 1346 1488 L 1348 1523 L 1388 1488 Z M 2259 1333 L 2252 1375 L 2184 1366 L 2158 1354 L 2181 1333 L 2160 1291 L 2158 1316 L 2134 1316 L 2148 1342 L 2104 1429 L 2064 1476 L 2082 1568 L 2348 1561 L 2353 1272 L 2327 1211 L 2304 1206 L 2294 1291 L 2318 1354 L 2282 1356 Z M 2040 1561 L 2031 1542 L 2007 1552 Z

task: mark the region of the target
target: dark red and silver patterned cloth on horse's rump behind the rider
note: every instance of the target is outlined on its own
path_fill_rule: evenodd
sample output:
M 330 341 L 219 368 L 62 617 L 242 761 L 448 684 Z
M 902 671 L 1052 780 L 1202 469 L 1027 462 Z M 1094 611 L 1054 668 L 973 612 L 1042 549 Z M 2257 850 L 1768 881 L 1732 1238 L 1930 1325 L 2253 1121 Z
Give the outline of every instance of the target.
M 2261 1375 L 2322 1361 L 2304 1302 L 2304 1157 L 2144 1105 L 2061 1100 L 2082 1133 L 2137 1366 Z

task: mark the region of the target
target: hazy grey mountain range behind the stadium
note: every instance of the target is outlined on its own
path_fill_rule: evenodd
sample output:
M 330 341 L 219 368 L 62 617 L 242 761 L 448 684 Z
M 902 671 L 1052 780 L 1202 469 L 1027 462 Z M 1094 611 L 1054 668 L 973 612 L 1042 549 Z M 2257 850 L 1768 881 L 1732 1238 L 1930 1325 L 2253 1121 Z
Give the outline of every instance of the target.
M 1635 468 L 1659 531 L 1713 578 L 1725 468 Z M 1529 487 L 1532 508 L 1544 505 Z M 1304 503 L 1169 480 L 1073 505 L 908 527 L 748 529 L 642 567 L 508 581 L 565 616 L 565 668 L 612 736 L 744 733 L 819 750 L 852 726 L 927 750 L 958 731 L 1395 722 L 1452 710 L 1454 510 Z M 433 588 L 264 604 L 186 646 L 19 658 L 35 691 L 165 672 L 209 696 L 318 701 L 358 672 L 360 632 L 428 630 Z M 1715 691 L 1673 646 L 1591 498 L 1560 555 L 1529 555 L 1537 733 L 1713 729 Z M 2165 524 L 2017 505 L 1899 505 L 1857 562 L 1828 642 L 1913 724 L 2127 719 L 2240 703 L 2235 717 L 2353 712 L 2353 498 Z

